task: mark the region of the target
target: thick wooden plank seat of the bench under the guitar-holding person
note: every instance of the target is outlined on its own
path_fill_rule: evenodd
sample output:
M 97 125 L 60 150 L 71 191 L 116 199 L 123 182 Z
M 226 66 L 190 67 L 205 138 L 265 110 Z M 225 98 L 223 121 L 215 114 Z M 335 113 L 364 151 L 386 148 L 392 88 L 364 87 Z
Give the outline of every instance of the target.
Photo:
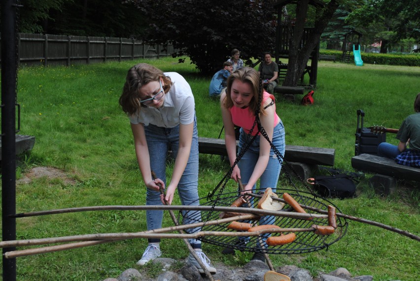
M 351 158 L 351 166 L 359 171 L 370 172 L 397 179 L 420 181 L 420 168 L 395 163 L 394 160 L 371 155 L 361 154 Z

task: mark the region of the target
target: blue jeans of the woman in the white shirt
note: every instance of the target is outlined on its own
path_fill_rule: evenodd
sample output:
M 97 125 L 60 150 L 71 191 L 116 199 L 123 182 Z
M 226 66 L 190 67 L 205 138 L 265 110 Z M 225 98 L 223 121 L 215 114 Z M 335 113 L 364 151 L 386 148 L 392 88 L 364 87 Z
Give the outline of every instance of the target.
M 166 155 L 169 146 L 172 146 L 174 157 L 178 155 L 179 148 L 179 125 L 173 128 L 158 127 L 149 124 L 144 126 L 144 132 L 147 140 L 147 147 L 150 155 L 150 168 L 156 173 L 166 186 Z M 187 165 L 179 180 L 178 194 L 182 205 L 200 205 L 198 197 L 198 133 L 197 119 L 194 117 L 194 131 L 191 144 L 190 156 Z M 147 188 L 146 205 L 162 205 L 160 192 Z M 185 216 L 186 212 L 182 211 Z M 163 211 L 146 211 L 147 229 L 157 229 L 162 227 Z M 187 213 L 187 219 L 183 223 L 194 223 L 201 221 L 201 212 L 190 211 Z M 201 228 L 187 229 L 189 233 L 200 231 Z M 160 242 L 160 239 L 148 239 L 151 242 Z M 188 240 L 193 248 L 201 248 L 201 241 L 197 239 Z

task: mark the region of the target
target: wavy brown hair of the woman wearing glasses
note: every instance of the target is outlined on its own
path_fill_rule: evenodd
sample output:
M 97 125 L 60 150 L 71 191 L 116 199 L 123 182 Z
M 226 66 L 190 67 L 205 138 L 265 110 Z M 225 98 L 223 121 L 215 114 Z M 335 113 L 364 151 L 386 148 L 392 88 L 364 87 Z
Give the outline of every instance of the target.
M 172 86 L 171 78 L 165 76 L 162 70 L 147 63 L 138 63 L 131 67 L 126 76 L 119 104 L 127 115 L 140 112 L 141 107 L 146 107 L 140 103 L 140 88 L 152 81 L 163 80 L 163 91 L 168 93 Z

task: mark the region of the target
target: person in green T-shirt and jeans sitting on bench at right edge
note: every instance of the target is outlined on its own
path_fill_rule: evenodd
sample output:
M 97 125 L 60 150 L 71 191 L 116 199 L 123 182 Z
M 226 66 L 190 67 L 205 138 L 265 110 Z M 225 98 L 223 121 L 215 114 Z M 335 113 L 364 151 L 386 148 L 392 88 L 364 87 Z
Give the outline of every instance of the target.
M 398 130 L 398 146 L 386 142 L 378 146 L 378 155 L 395 159 L 398 164 L 420 167 L 420 93 L 414 101 L 415 114 L 409 115 Z M 410 146 L 410 149 L 407 146 Z

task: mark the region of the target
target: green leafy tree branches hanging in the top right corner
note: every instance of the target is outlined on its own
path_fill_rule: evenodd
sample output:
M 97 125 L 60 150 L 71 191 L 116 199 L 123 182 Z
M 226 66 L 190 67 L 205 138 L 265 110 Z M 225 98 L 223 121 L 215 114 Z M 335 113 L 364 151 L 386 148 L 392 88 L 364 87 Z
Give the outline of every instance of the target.
M 420 42 L 419 0 L 364 0 L 364 4 L 349 15 L 349 21 L 367 29 L 380 29 L 376 39 L 382 41 L 381 53 L 388 45 L 402 39 Z

